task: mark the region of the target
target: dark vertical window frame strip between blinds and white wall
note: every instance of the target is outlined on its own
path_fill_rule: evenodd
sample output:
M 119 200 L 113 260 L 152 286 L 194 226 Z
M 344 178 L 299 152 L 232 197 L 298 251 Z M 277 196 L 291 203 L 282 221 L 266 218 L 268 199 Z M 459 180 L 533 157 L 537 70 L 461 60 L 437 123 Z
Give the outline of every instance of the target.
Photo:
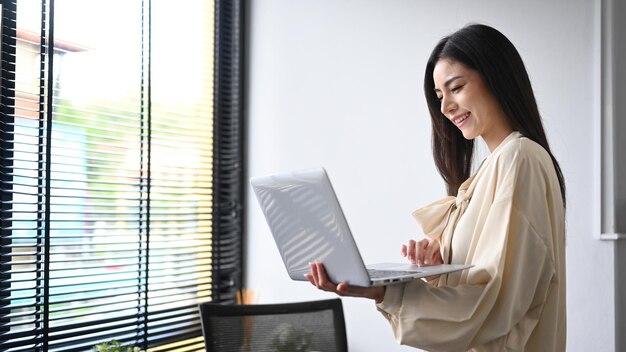
M 244 274 L 244 30 L 245 1 L 215 0 L 213 233 L 220 235 L 213 288 L 224 304 L 237 303 Z M 236 253 L 234 260 L 222 261 L 229 252 Z

